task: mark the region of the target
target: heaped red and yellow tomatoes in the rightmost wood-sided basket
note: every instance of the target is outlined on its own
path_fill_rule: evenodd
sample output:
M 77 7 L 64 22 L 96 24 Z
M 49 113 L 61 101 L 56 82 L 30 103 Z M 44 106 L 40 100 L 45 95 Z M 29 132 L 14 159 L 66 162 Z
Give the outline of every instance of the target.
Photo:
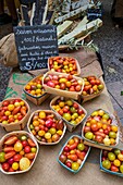
M 84 138 L 104 146 L 118 145 L 118 126 L 111 124 L 112 119 L 104 110 L 96 110 L 87 119 L 83 126 Z

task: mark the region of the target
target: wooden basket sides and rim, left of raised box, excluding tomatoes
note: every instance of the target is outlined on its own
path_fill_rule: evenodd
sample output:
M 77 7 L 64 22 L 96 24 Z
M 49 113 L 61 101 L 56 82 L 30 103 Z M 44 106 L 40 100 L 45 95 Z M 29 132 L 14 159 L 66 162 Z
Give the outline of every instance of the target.
M 42 74 L 36 76 L 36 77 L 33 78 L 32 81 L 34 81 L 34 79 L 36 79 L 36 78 L 38 78 L 38 77 L 41 77 L 41 76 L 42 76 Z M 30 81 L 29 81 L 29 82 L 30 82 Z M 29 83 L 29 82 L 28 82 L 28 83 Z M 28 84 L 28 83 L 27 83 L 27 84 Z M 26 85 L 27 85 L 27 84 L 26 84 Z M 25 85 L 25 87 L 26 87 L 26 85 Z M 25 87 L 24 87 L 23 91 L 25 92 L 26 98 L 27 98 L 29 101 L 32 101 L 34 104 L 36 104 L 36 106 L 41 104 L 41 103 L 50 96 L 50 94 L 47 94 L 47 92 L 45 92 L 45 94 L 42 94 L 41 96 L 38 96 L 38 97 L 33 96 L 33 95 L 28 94 L 28 92 L 25 90 Z

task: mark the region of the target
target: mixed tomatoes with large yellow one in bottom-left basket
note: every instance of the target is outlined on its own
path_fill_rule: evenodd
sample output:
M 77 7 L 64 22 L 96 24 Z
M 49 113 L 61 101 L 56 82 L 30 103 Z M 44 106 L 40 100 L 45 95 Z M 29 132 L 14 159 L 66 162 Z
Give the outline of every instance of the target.
M 0 170 L 5 174 L 26 172 L 33 165 L 38 145 L 29 134 L 8 134 L 0 150 Z

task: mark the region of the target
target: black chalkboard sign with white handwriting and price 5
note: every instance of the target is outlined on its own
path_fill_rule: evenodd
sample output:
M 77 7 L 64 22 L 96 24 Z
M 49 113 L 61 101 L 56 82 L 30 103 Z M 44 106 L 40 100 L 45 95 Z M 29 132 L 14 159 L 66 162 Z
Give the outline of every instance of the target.
M 47 69 L 48 58 L 59 55 L 54 25 L 17 26 L 14 34 L 21 71 Z

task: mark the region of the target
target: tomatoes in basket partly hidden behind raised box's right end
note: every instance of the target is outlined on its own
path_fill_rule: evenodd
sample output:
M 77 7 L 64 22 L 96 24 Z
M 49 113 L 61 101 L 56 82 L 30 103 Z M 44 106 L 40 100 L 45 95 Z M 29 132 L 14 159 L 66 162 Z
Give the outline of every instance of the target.
M 104 88 L 103 84 L 96 76 L 84 77 L 83 96 L 97 95 Z

